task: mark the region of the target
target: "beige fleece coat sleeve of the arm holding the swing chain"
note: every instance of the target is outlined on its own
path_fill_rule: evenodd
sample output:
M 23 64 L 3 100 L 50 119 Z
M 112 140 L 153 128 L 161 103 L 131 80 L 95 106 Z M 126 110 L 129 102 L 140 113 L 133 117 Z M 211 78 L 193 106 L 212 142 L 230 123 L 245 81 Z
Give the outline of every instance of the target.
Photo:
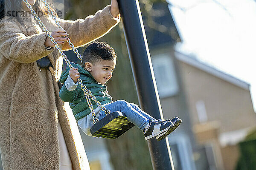
M 0 53 L 10 60 L 30 63 L 47 56 L 54 48 L 45 48 L 46 37 L 46 33 L 27 37 L 16 23 L 0 21 Z

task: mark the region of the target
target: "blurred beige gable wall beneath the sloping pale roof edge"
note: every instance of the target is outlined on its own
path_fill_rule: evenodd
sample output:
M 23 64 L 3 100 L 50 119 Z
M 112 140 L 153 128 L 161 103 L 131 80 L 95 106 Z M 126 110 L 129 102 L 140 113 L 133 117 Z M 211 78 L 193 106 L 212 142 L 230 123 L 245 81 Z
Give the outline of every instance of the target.
M 220 133 L 256 125 L 249 84 L 184 55 L 179 68 L 193 124 L 201 123 L 197 105 L 204 102 L 202 122 L 220 121 Z

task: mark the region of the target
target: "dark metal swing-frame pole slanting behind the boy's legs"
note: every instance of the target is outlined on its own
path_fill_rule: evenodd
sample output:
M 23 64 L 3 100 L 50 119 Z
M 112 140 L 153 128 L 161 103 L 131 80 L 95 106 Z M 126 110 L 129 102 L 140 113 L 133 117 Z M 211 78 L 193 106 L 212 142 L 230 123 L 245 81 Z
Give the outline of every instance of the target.
M 117 0 L 125 41 L 137 88 L 140 107 L 156 119 L 163 119 L 138 0 Z M 154 170 L 174 170 L 168 138 L 148 141 Z

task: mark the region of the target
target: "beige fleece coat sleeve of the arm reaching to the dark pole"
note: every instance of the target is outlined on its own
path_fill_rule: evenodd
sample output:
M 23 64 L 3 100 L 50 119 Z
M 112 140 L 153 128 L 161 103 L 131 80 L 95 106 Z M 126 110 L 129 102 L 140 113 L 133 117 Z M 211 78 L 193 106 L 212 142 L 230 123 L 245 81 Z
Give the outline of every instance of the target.
M 62 28 L 70 35 L 70 41 L 77 48 L 107 34 L 119 23 L 120 16 L 118 18 L 112 17 L 109 5 L 97 11 L 94 16 L 90 15 L 85 19 L 78 19 L 76 21 L 58 20 Z M 63 44 L 62 49 L 70 50 L 71 47 L 66 42 Z

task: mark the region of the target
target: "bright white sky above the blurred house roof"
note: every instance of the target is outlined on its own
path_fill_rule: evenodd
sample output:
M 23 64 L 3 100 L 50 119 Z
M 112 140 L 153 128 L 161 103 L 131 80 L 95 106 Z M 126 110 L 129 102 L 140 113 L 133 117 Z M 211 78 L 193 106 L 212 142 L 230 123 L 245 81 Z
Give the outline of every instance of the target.
M 256 0 L 167 0 L 176 50 L 250 84 L 256 111 Z

